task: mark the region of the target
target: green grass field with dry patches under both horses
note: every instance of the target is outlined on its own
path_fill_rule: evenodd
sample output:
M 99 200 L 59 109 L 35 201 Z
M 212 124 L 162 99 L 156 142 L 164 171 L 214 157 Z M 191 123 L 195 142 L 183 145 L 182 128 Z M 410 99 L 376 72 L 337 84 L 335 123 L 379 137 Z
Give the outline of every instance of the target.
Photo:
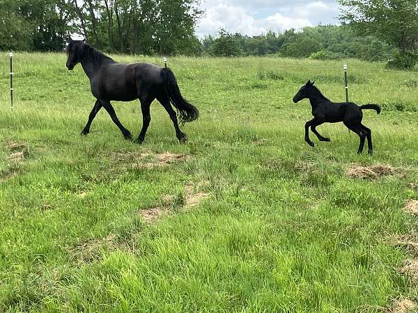
M 311 108 L 291 99 L 314 79 L 343 101 L 342 62 L 170 58 L 201 119 L 180 145 L 155 102 L 136 145 L 104 110 L 79 135 L 94 99 L 64 54 L 16 55 L 10 110 L 2 54 L 0 312 L 395 312 L 418 300 L 418 223 L 403 209 L 418 198 L 418 73 L 347 62 L 350 99 L 383 109 L 364 114 L 373 157 L 343 125 L 318 128 L 331 143 L 303 140 Z M 139 104 L 114 107 L 137 136 Z

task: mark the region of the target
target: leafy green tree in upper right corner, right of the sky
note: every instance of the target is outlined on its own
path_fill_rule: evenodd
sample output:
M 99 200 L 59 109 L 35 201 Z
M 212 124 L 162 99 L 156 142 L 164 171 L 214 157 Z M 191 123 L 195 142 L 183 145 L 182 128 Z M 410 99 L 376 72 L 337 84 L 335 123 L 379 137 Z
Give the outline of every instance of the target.
M 418 0 L 339 0 L 341 21 L 360 34 L 374 34 L 398 48 L 397 67 L 411 68 L 418 61 Z

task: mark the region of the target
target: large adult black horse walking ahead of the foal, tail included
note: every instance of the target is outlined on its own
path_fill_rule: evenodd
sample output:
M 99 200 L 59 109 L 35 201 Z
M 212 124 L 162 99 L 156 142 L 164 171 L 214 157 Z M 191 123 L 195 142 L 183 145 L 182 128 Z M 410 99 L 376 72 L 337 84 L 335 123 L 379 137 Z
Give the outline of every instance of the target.
M 157 99 L 169 113 L 178 140 L 180 142 L 187 140 L 178 127 L 177 115 L 171 104 L 177 109 L 182 123 L 192 122 L 199 118 L 199 111 L 183 98 L 176 77 L 169 68 L 149 63 L 117 63 L 79 40 L 70 39 L 66 51 L 68 70 L 73 70 L 77 63 L 82 63 L 84 72 L 90 79 L 91 93 L 97 99 L 88 117 L 87 125 L 82 131 L 83 135 L 88 134 L 95 115 L 104 107 L 114 123 L 121 129 L 125 139 L 131 139 L 130 131 L 119 122 L 110 102 L 128 102 L 139 99 L 143 125 L 137 142 L 142 143 L 150 125 L 150 105 L 154 99 Z

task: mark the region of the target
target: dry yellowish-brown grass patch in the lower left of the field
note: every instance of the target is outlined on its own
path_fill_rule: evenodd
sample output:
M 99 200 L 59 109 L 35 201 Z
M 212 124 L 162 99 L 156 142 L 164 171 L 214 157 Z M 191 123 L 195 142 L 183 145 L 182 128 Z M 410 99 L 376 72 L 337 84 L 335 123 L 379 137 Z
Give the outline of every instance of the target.
M 67 248 L 73 262 L 79 264 L 92 263 L 102 259 L 102 252 L 115 250 L 129 250 L 125 244 L 118 243 L 115 234 L 109 234 L 103 239 L 82 241 L 76 246 Z

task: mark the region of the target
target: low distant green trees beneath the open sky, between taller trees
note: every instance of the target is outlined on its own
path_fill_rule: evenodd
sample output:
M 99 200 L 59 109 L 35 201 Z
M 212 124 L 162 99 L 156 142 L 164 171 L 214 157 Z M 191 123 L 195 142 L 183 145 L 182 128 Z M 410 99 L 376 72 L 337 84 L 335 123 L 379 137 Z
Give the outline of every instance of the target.
M 203 54 L 212 56 L 265 56 L 276 54 L 293 58 L 330 60 L 359 58 L 366 61 L 387 61 L 394 47 L 375 35 L 357 35 L 346 26 L 306 27 L 283 33 L 269 31 L 264 35 L 247 36 L 221 29 L 217 36 L 202 40 Z

